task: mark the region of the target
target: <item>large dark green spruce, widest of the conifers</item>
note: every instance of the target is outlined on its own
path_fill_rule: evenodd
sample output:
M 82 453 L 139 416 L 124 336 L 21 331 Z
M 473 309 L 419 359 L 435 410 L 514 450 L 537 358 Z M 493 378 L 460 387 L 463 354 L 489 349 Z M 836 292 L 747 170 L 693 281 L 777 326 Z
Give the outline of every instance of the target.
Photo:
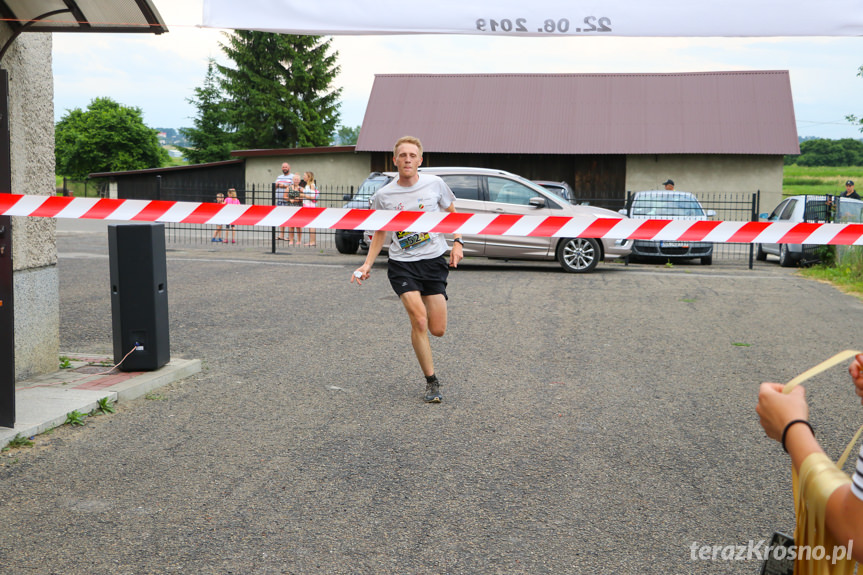
M 218 66 L 234 144 L 240 149 L 327 146 L 339 121 L 338 53 L 330 40 L 270 32 L 226 32 Z

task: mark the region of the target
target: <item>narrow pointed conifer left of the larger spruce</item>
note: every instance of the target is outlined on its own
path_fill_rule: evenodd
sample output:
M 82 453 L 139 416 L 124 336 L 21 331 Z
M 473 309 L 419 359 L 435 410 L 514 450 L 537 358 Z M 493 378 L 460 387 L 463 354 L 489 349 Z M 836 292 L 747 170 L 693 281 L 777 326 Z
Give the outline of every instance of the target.
M 186 159 L 192 164 L 203 164 L 230 158 L 233 143 L 225 128 L 229 120 L 216 77 L 216 63 L 212 58 L 207 64 L 204 85 L 195 88 L 195 97 L 187 101 L 195 105 L 198 115 L 192 120 L 193 128 L 180 128 L 189 144 L 189 147 L 182 148 Z

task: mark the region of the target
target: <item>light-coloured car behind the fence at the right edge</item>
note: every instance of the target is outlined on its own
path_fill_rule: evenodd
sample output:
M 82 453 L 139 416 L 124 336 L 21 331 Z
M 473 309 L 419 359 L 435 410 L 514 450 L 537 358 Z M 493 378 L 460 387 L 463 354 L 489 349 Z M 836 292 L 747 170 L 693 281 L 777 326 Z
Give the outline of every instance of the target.
M 835 213 L 827 204 L 836 204 Z M 767 217 L 768 222 L 828 223 L 859 222 L 863 211 L 863 201 L 835 196 L 789 196 L 782 200 Z M 767 254 L 779 256 L 779 265 L 793 267 L 801 263 L 818 261 L 818 246 L 809 244 L 758 244 L 755 259 L 764 261 Z

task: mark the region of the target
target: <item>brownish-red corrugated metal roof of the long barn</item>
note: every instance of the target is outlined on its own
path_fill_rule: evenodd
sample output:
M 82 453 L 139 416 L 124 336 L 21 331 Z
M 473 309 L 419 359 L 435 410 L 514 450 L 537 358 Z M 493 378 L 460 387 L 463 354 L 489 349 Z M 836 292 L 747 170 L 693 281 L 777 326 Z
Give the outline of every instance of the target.
M 377 75 L 356 149 L 404 135 L 449 153 L 800 153 L 786 70 Z

